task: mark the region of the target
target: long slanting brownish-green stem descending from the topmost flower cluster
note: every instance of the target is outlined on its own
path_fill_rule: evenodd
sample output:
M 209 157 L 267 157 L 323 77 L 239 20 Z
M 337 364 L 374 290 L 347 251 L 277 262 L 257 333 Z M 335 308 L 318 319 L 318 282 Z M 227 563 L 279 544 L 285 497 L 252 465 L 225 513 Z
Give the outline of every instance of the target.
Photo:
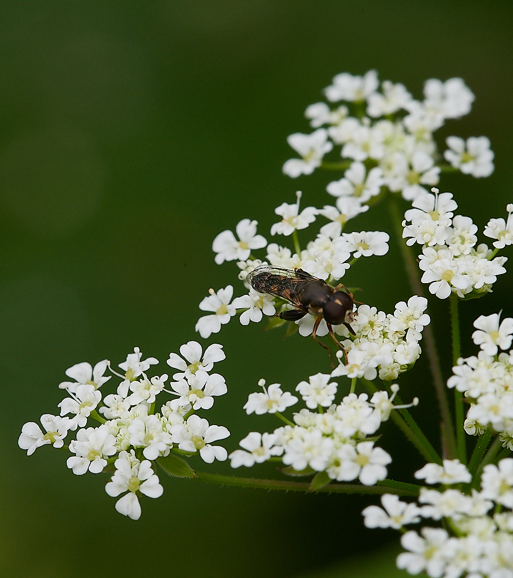
M 397 243 L 403 256 L 404 267 L 408 275 L 409 283 L 415 295 L 424 296 L 422 283 L 419 279 L 419 268 L 415 258 L 403 240 L 403 225 L 401 225 L 403 218 L 398 208 L 396 195 L 389 195 L 389 209 L 394 231 L 397 236 Z M 426 325 L 424 328 L 424 342 L 426 343 L 426 353 L 429 359 L 429 367 L 431 375 L 433 376 L 433 386 L 437 395 L 438 407 L 440 408 L 440 430 L 442 436 L 442 450 L 445 455 L 449 457 L 456 457 L 456 440 L 454 430 L 452 427 L 451 410 L 449 409 L 449 401 L 447 398 L 446 387 L 442 377 L 442 370 L 440 368 L 440 360 L 436 342 L 434 339 L 433 329 L 431 325 Z

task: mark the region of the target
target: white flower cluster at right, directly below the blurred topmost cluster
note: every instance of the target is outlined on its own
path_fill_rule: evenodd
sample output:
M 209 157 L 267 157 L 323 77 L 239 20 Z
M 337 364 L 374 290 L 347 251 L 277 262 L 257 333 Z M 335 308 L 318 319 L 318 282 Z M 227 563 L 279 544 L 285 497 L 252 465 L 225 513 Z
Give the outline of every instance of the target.
M 491 292 L 497 275 L 506 272 L 503 265 L 507 257 L 494 257 L 498 249 L 492 251 L 485 243 L 475 247 L 477 225 L 470 217 L 454 216 L 457 204 L 452 193 L 431 190 L 434 194 L 423 192 L 415 198 L 414 208 L 404 213 L 403 221 L 407 244 L 423 246 L 419 255 L 422 283 L 429 283 L 430 293 L 440 299 L 448 298 L 451 292 L 462 299 L 471 292 Z M 499 221 L 502 223 L 497 225 Z M 507 226 L 504 219 L 492 219 L 484 233 L 499 239 L 497 244 L 502 248 L 511 244 Z

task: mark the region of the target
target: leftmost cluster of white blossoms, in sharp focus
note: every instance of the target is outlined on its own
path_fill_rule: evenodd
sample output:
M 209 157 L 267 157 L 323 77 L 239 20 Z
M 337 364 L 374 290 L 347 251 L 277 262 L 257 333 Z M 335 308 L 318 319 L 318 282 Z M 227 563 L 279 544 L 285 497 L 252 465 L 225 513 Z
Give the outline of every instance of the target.
M 119 364 L 124 374 L 111 369 L 107 360 L 94 368 L 87 362 L 73 365 L 66 375 L 74 381 L 59 385 L 69 396 L 58 404 L 60 415 L 41 416 L 45 432 L 32 421 L 24 424 L 19 446 L 27 450 L 27 455 L 47 444 L 68 449 L 73 455 L 67 466 L 76 475 L 114 471 L 105 491 L 113 497 L 124 494 L 116 502 L 116 510 L 138 520 L 141 494 L 158 498 L 164 491 L 154 472 L 158 458 L 172 452 L 199 453 L 209 464 L 227 458 L 226 449 L 213 442 L 227 438 L 228 429 L 209 425 L 195 414 L 198 409 L 210 409 L 215 396 L 226 394 L 224 378 L 210 373 L 215 362 L 226 357 L 223 346 L 212 344 L 203 353 L 199 343 L 190 341 L 180 347 L 180 354 L 182 357 L 171 353 L 167 360 L 169 366 L 179 370 L 174 381 L 169 381 L 171 390 L 165 389 L 166 374 L 151 378 L 146 375 L 158 361 L 154 357 L 142 360 L 138 347 Z M 104 375 L 107 368 L 122 381 L 116 393 L 102 398 L 101 388 L 112 377 Z M 174 399 L 161 402 L 158 413 L 157 395 L 163 391 Z M 91 419 L 101 425 L 86 427 Z M 64 446 L 69 433 L 75 431 L 76 439 Z

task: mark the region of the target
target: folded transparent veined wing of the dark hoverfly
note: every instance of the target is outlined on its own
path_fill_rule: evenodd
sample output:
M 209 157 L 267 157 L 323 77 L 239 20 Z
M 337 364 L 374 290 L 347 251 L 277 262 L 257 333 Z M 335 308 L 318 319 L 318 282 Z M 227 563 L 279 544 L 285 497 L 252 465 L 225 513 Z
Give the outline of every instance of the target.
M 317 277 L 302 269 L 284 269 L 267 265 L 254 269 L 246 277 L 246 281 L 255 291 L 274 295 L 301 309 L 299 291 L 304 283 L 316 279 Z

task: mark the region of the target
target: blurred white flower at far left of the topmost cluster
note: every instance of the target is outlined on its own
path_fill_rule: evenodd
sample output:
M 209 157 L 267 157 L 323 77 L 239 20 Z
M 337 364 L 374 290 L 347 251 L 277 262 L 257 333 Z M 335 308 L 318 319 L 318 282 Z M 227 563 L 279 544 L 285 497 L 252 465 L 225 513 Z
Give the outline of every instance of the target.
M 328 138 L 325 128 L 318 128 L 311 135 L 296 132 L 287 137 L 287 143 L 301 155 L 300 158 L 290 158 L 283 165 L 285 175 L 295 179 L 300 175 L 311 175 L 320 166 L 322 158 L 333 149 L 333 143 Z M 271 232 L 272 235 L 272 232 Z M 247 257 L 246 257 L 247 258 Z

